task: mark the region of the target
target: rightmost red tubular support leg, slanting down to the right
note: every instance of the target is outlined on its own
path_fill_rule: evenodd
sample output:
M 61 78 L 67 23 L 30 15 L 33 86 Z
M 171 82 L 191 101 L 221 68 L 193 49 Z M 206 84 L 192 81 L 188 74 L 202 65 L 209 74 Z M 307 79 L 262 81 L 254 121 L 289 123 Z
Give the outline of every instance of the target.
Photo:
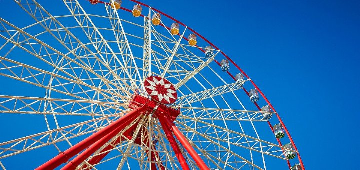
M 181 133 L 181 131 L 176 127 L 174 123 L 167 122 L 168 124 L 171 124 L 170 127 L 172 129 L 172 132 L 175 134 L 177 140 L 184 146 L 184 148 L 187 150 L 187 152 L 190 154 L 192 159 L 195 160 L 197 166 L 200 169 L 209 169 L 205 162 L 201 159 L 201 157 L 196 153 L 196 151 L 192 148 L 191 144 L 187 141 L 185 136 Z

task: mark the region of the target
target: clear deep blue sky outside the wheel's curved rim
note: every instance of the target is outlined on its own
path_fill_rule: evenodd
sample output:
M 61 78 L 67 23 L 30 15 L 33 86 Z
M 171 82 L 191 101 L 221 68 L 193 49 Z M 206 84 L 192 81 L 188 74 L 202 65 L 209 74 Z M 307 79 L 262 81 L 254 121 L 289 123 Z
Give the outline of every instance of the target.
M 307 169 L 357 166 L 360 1 L 143 2 L 205 36 L 255 81 L 285 122 Z M 7 15 L 21 19 L 10 9 L 0 11 Z

